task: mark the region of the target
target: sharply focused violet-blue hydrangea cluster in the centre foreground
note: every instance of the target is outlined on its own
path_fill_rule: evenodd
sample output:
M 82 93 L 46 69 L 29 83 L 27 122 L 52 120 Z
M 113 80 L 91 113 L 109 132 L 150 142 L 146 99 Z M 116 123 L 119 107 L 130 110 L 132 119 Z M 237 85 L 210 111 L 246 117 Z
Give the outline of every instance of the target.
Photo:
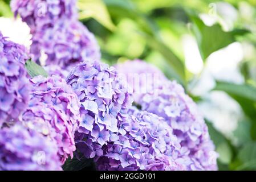
M 67 78 L 80 100 L 76 146 L 99 170 L 182 170 L 185 159 L 163 118 L 132 107 L 127 85 L 113 67 L 85 61 Z

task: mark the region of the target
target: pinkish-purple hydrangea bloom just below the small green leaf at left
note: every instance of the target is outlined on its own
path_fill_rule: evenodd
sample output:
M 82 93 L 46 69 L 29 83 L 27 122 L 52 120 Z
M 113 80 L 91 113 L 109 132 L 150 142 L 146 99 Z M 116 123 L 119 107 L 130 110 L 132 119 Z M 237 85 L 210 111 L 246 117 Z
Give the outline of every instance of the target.
M 62 163 L 75 151 L 74 134 L 80 121 L 79 101 L 71 87 L 59 76 L 36 76 L 29 107 L 23 114 L 27 127 L 56 141 Z

